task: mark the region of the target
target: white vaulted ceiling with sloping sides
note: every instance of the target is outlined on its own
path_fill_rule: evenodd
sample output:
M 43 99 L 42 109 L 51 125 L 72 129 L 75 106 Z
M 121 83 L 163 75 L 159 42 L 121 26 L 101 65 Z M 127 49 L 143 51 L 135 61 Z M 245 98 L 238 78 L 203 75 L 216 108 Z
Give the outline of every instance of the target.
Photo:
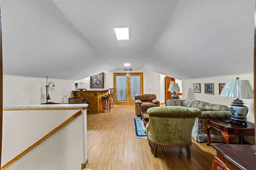
M 255 0 L 1 0 L 3 73 L 79 80 L 131 63 L 176 79 L 253 72 Z M 130 26 L 116 40 L 114 26 Z

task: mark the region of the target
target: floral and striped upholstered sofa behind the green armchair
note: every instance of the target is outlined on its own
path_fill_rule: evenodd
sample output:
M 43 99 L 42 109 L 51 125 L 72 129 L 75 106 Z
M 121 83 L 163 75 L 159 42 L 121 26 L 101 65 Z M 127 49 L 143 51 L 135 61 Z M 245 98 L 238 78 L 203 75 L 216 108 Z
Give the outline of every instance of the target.
M 219 117 L 231 117 L 228 107 L 225 105 L 211 104 L 204 101 L 198 101 L 193 99 L 186 100 L 172 100 L 168 99 L 166 101 L 167 106 L 183 106 L 190 108 L 198 108 L 202 111 L 202 115 L 196 118 L 194 127 L 192 130 L 192 138 L 196 142 L 208 142 L 208 137 L 206 134 L 206 124 L 208 121 L 206 119 L 219 118 Z M 221 132 L 211 128 L 210 129 L 211 142 L 225 142 L 225 139 L 221 136 Z

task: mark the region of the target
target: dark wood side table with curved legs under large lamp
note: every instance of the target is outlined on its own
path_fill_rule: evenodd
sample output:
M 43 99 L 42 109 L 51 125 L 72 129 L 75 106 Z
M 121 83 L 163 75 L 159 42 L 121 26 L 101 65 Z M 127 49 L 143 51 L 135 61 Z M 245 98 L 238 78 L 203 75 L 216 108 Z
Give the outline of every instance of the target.
M 239 125 L 236 123 L 226 123 L 221 119 L 207 119 L 206 133 L 208 136 L 207 145 L 210 145 L 210 129 L 215 128 L 221 132 L 225 138 L 226 144 L 230 144 L 232 140 L 236 140 L 237 136 L 239 144 L 242 144 L 242 136 L 255 136 L 254 123 L 247 122 L 247 125 Z

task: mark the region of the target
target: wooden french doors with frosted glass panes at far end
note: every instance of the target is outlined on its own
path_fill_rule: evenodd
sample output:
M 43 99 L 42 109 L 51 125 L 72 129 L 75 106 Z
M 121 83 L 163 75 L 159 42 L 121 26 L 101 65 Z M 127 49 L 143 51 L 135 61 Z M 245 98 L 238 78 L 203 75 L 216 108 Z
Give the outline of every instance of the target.
M 143 73 L 113 73 L 116 105 L 135 103 L 134 95 L 143 93 Z

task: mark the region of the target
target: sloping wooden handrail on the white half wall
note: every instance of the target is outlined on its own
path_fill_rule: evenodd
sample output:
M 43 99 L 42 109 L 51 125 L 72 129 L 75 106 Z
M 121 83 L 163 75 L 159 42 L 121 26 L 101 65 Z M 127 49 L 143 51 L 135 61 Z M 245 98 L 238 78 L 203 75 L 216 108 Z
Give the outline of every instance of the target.
M 26 148 L 25 150 L 23 150 L 20 154 L 18 154 L 17 156 L 15 156 L 14 158 L 12 158 L 9 162 L 7 162 L 6 164 L 4 164 L 1 167 L 1 170 L 4 170 L 5 168 L 7 168 L 8 166 L 10 166 L 11 164 L 13 164 L 16 160 L 20 159 L 22 156 L 24 156 L 26 153 L 28 153 L 30 150 L 34 149 L 36 146 L 38 146 L 40 143 L 44 142 L 44 140 L 46 140 L 47 138 L 49 138 L 50 136 L 52 136 L 54 133 L 56 133 L 58 130 L 60 130 L 61 128 L 63 128 L 64 126 L 66 126 L 68 123 L 70 123 L 71 121 L 73 121 L 76 117 L 82 115 L 82 111 L 78 111 L 76 112 L 74 115 L 72 115 L 71 117 L 69 117 L 68 119 L 66 119 L 66 121 L 64 121 L 63 123 L 61 123 L 60 125 L 58 125 L 56 128 L 54 128 L 52 131 L 50 131 L 48 134 L 46 134 L 45 136 L 43 136 L 42 138 L 40 138 L 38 141 L 36 141 L 34 144 L 32 144 L 31 146 L 29 146 L 28 148 Z

